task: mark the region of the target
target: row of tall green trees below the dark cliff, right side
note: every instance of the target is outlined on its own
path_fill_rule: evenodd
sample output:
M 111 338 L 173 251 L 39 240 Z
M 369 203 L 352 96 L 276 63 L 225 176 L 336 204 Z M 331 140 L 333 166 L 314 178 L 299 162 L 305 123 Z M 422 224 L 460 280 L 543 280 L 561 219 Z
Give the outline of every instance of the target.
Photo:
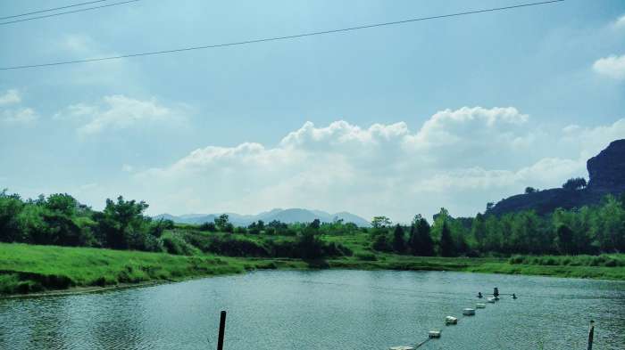
M 532 210 L 454 218 L 445 208 L 431 226 L 421 216 L 392 225 L 371 223 L 372 248 L 415 256 L 596 255 L 625 251 L 625 194 L 607 195 L 596 206 L 558 208 L 546 216 Z

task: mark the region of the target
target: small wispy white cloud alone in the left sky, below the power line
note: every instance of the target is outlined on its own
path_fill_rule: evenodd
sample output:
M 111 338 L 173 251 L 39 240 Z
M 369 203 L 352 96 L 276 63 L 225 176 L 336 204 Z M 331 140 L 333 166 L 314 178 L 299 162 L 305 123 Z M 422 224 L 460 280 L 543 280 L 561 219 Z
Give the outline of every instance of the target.
M 124 95 L 105 96 L 102 102 L 73 104 L 56 113 L 54 119 L 79 121 L 82 136 L 105 130 L 121 130 L 155 123 L 184 121 L 178 110 L 162 106 L 155 99 L 141 101 Z

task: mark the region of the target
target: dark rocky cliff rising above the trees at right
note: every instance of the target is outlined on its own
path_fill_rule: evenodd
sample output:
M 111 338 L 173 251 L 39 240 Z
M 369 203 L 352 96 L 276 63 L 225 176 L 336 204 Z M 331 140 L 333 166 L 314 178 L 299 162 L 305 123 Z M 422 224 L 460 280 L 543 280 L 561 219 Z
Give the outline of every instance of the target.
M 571 191 L 562 188 L 517 194 L 502 199 L 487 214 L 505 213 L 533 209 L 540 215 L 555 208 L 580 208 L 598 203 L 606 194 L 620 195 L 625 192 L 625 140 L 616 140 L 588 159 L 589 182 L 585 189 Z M 562 179 L 562 183 L 566 179 Z

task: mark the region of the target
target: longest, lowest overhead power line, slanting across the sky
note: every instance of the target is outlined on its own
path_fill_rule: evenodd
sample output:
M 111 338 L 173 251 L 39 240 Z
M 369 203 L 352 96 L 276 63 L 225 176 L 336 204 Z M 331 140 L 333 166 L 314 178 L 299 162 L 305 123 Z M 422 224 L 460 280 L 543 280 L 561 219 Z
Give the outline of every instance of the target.
M 133 0 L 133 1 L 138 1 L 138 0 Z M 225 47 L 225 46 L 248 45 L 248 44 L 264 43 L 264 42 L 270 42 L 270 41 L 295 39 L 295 38 L 298 38 L 298 37 L 312 37 L 312 36 L 319 36 L 319 35 L 323 35 L 323 34 L 341 33 L 341 32 L 353 31 L 353 30 L 365 29 L 365 28 L 376 28 L 376 27 L 384 27 L 384 26 L 393 26 L 393 25 L 410 23 L 410 22 L 416 22 L 416 21 L 421 21 L 421 20 L 436 20 L 436 19 L 443 19 L 443 18 L 449 18 L 449 17 L 458 17 L 458 16 L 463 16 L 463 15 L 477 14 L 477 13 L 484 13 L 484 12 L 496 12 L 496 11 L 512 10 L 512 9 L 517 9 L 517 8 L 521 8 L 521 7 L 536 6 L 536 5 L 541 5 L 541 4 L 561 3 L 563 1 L 565 1 L 565 0 L 551 0 L 551 1 L 542 1 L 542 2 L 539 2 L 539 3 L 517 4 L 517 5 L 512 5 L 512 6 L 489 8 L 489 9 L 484 9 L 484 10 L 475 10 L 475 11 L 468 11 L 468 12 L 456 12 L 456 13 L 450 13 L 450 14 L 437 15 L 437 16 L 414 18 L 414 19 L 410 19 L 410 20 L 396 20 L 396 21 L 392 21 L 392 22 L 368 24 L 368 25 L 362 25 L 362 26 L 358 26 L 358 27 L 330 29 L 330 30 L 323 30 L 323 31 L 310 32 L 310 33 L 296 34 L 296 35 L 284 36 L 284 37 L 266 37 L 266 38 L 261 38 L 261 39 L 251 39 L 251 40 L 231 42 L 231 43 L 225 43 L 225 44 L 191 46 L 191 47 L 185 47 L 185 48 L 179 48 L 179 49 L 154 51 L 154 52 L 148 52 L 148 53 L 129 53 L 129 54 L 122 54 L 122 55 L 119 55 L 119 56 L 108 56 L 108 57 L 100 57 L 100 58 L 85 59 L 85 60 L 57 61 L 57 62 L 51 62 L 51 63 L 30 64 L 30 65 L 23 65 L 23 66 L 1 67 L 0 70 L 29 69 L 29 68 L 60 66 L 60 65 L 74 64 L 74 63 L 87 63 L 87 62 L 96 62 L 96 61 L 110 61 L 110 60 L 119 60 L 119 59 L 130 58 L 130 57 L 151 56 L 151 55 L 162 54 L 162 53 L 180 53 L 180 52 L 186 52 L 186 51 L 212 49 L 212 48 Z

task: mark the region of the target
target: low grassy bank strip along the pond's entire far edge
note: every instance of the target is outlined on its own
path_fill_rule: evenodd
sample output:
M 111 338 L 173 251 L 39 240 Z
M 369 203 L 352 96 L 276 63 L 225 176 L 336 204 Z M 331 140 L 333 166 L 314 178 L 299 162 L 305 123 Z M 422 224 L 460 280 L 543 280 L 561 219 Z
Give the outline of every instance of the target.
M 508 273 L 625 281 L 623 266 L 511 264 L 503 258 L 356 255 L 304 261 L 282 258 L 174 256 L 164 253 L 0 244 L 0 294 L 88 292 L 146 283 L 245 273 L 256 269 L 337 268 L 360 270 Z

